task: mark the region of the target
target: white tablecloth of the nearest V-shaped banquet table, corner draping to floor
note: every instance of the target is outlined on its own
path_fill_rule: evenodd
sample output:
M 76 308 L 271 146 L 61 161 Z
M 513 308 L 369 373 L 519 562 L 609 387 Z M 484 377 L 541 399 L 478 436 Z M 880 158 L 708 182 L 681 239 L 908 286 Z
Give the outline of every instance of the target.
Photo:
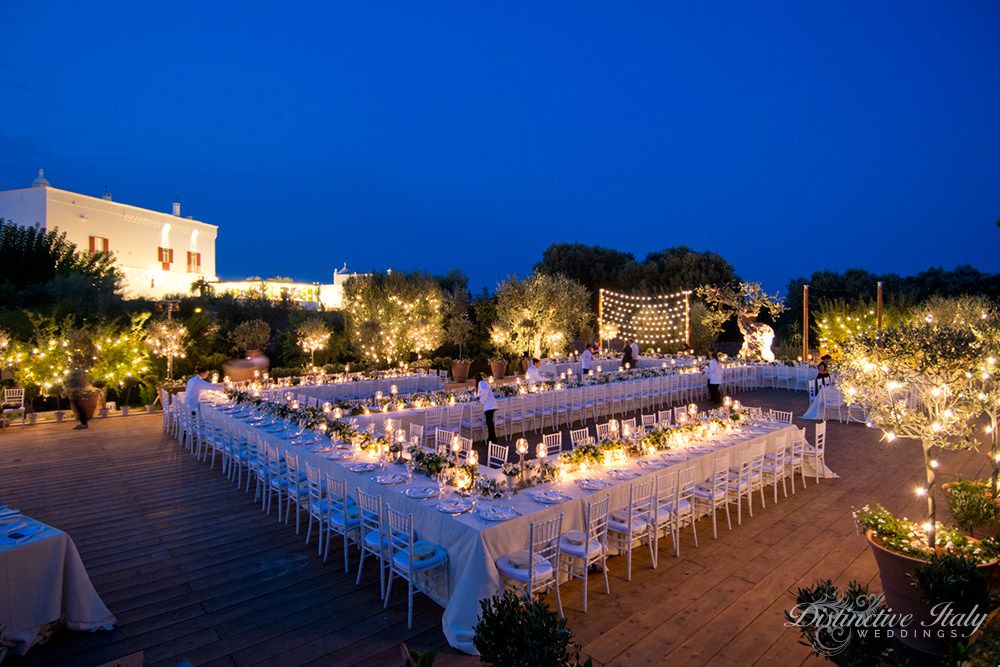
M 437 499 L 421 501 L 403 495 L 402 492 L 411 485 L 383 486 L 379 484 L 375 481 L 375 477 L 376 473 L 382 471 L 355 474 L 345 467 L 350 463 L 374 461 L 372 458 L 366 458 L 367 454 L 360 454 L 359 458 L 353 461 L 333 461 L 325 458 L 322 453 L 313 451 L 315 445 L 291 445 L 288 440 L 256 429 L 247 421 L 219 412 L 211 405 L 203 405 L 202 412 L 206 419 L 215 421 L 230 432 L 249 435 L 272 447 L 277 447 L 283 452 L 291 451 L 297 454 L 302 469 L 308 463 L 324 473 L 346 480 L 348 492 L 352 496 L 356 495 L 357 489 L 362 489 L 367 493 L 381 496 L 384 502 L 397 511 L 413 513 L 414 528 L 419 539 L 430 540 L 448 552 L 450 594 L 447 599 L 437 601 L 444 606 L 442 626 L 448 642 L 466 653 L 474 654 L 476 652 L 472 640 L 474 626 L 479 615 L 479 601 L 496 595 L 503 589 L 495 561 L 503 555 L 527 548 L 531 522 L 562 513 L 563 531 L 579 530 L 583 527 L 582 499 L 594 493 L 610 494 L 610 508 L 612 510 L 627 504 L 629 482 L 615 482 L 609 480 L 604 474 L 599 476 L 608 481 L 609 486 L 601 491 L 587 492 L 571 481 L 561 484 L 558 482 L 541 484 L 532 489 L 557 488 L 571 497 L 571 500 L 558 505 L 542 505 L 532 499 L 530 491 L 521 491 L 514 496 L 512 502 L 514 509 L 520 516 L 506 522 L 490 523 L 472 512 L 453 516 L 436 509 Z M 776 422 L 762 422 L 755 429 L 748 428 L 746 431 L 736 433 L 731 437 L 719 438 L 713 443 L 700 443 L 707 445 L 707 447 L 689 452 L 690 458 L 676 465 L 682 467 L 694 465 L 698 468 L 699 477 L 708 478 L 712 473 L 716 456 L 723 453 L 738 456 L 746 448 L 762 441 L 766 442 L 770 449 L 775 445 L 778 434 L 782 432 L 787 433 L 790 437 L 795 435 L 797 430 L 793 426 Z M 326 439 L 321 440 L 321 442 L 329 444 Z M 730 461 L 733 460 L 735 458 L 730 459 Z M 645 470 L 638 467 L 637 461 L 638 459 L 631 459 L 625 464 L 616 464 L 616 466 L 619 469 L 637 471 L 640 475 L 638 478 L 657 473 L 657 470 Z M 498 470 L 480 466 L 479 471 L 483 476 L 499 477 Z M 405 475 L 405 468 L 402 465 L 386 464 L 385 472 Z M 598 476 L 595 472 L 591 472 L 591 478 Z M 807 471 L 807 474 L 813 474 L 813 472 Z M 835 475 L 828 469 L 824 469 L 820 471 L 820 476 L 834 477 Z M 412 486 L 426 486 L 432 483 L 429 478 L 417 474 Z M 489 507 L 494 502 L 503 501 L 480 499 L 479 507 Z M 610 567 L 621 567 L 621 565 L 612 560 Z

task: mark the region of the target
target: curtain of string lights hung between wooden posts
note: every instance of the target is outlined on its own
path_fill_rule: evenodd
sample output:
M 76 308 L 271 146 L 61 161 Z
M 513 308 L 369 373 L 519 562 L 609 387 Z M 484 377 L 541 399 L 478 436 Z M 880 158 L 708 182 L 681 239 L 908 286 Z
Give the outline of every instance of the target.
M 640 296 L 602 289 L 597 318 L 602 339 L 627 338 L 654 347 L 688 345 L 691 291 Z

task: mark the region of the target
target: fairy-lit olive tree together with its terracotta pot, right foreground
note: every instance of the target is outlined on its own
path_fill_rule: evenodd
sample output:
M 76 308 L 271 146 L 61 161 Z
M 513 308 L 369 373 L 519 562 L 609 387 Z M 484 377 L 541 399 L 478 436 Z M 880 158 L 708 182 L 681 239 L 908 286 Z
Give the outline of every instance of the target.
M 916 621 L 931 616 L 929 604 L 911 585 L 912 575 L 935 553 L 962 555 L 989 569 L 997 563 L 993 543 L 979 543 L 937 522 L 935 452 L 975 446 L 971 436 L 978 408 L 970 392 L 971 371 L 981 355 L 982 346 L 967 326 L 928 318 L 881 335 L 860 334 L 845 346 L 840 366 L 845 399 L 865 409 L 886 442 L 920 444 L 925 484 L 916 492 L 927 500 L 925 521 L 895 517 L 880 506 L 855 511 L 878 564 L 886 600 Z M 940 641 L 914 634 L 901 639 L 919 650 L 945 650 Z

